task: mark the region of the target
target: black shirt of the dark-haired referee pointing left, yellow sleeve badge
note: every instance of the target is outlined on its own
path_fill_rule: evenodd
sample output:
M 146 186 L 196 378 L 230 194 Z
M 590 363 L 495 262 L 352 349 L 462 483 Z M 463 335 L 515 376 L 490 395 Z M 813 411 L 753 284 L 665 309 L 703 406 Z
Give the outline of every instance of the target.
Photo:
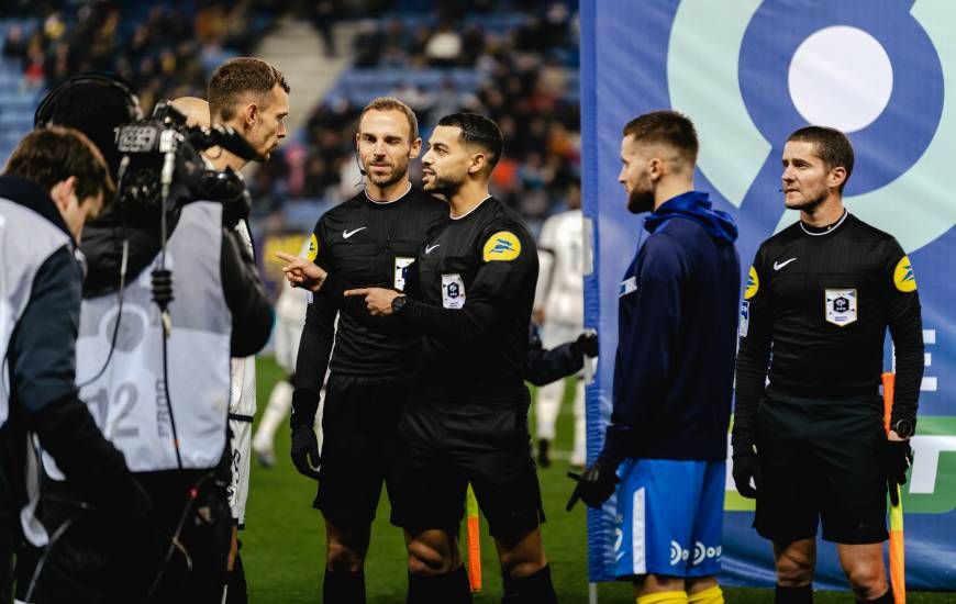
M 425 336 L 422 382 L 458 401 L 526 393 L 537 250 L 524 221 L 489 197 L 436 228 L 415 266 L 418 300 L 397 316 Z

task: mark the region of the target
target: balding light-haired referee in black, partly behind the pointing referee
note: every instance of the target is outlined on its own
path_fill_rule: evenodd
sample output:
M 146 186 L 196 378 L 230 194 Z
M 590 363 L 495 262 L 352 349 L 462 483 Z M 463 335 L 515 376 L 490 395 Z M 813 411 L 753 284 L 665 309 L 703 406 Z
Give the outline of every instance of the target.
M 425 234 L 448 219 L 443 202 L 409 181 L 409 163 L 421 144 L 407 104 L 379 98 L 366 105 L 356 134 L 366 189 L 319 219 L 309 259 L 342 282 L 404 289 Z M 326 604 L 365 602 L 363 564 L 371 521 L 383 481 L 392 496 L 394 426 L 421 346 L 418 334 L 386 334 L 369 327 L 369 321 L 360 300 L 344 300 L 342 289 L 326 282 L 309 304 L 299 344 L 291 452 L 296 468 L 319 480 L 313 505 L 325 517 Z M 320 465 L 313 424 L 326 367 L 332 372 Z

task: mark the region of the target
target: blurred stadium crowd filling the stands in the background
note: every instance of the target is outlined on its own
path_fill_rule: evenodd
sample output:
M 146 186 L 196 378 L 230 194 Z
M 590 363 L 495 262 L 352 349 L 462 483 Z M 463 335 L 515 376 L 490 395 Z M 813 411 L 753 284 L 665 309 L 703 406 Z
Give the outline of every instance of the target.
M 353 70 L 477 72 L 475 89 L 447 77 L 434 90 L 403 85 L 389 92 L 409 102 L 425 133 L 441 115 L 458 109 L 494 119 L 509 143 L 492 190 L 533 225 L 578 194 L 579 111 L 577 79 L 570 77 L 577 18 L 567 3 L 438 2 L 434 14 L 415 14 L 422 8 L 415 2 L 366 4 L 360 14 L 385 16 L 358 23 Z M 407 16 L 409 10 L 412 16 Z M 330 56 L 336 54 L 331 23 L 359 13 L 352 3 L 336 1 L 301 10 L 269 0 L 200 2 L 194 12 L 178 5 L 92 2 L 74 12 L 41 12 L 42 24 L 33 31 L 12 27 L 3 54 L 20 61 L 24 80 L 35 88 L 55 87 L 81 71 L 115 71 L 133 83 L 149 114 L 157 100 L 204 96 L 216 65 L 252 53 L 256 41 L 291 11 L 315 25 Z M 499 22 L 508 26 L 496 27 Z M 354 194 L 360 175 L 353 138 L 368 100 L 331 94 L 314 109 L 300 135 L 291 136 L 252 178 L 254 219 L 278 219 L 290 202 L 334 204 Z

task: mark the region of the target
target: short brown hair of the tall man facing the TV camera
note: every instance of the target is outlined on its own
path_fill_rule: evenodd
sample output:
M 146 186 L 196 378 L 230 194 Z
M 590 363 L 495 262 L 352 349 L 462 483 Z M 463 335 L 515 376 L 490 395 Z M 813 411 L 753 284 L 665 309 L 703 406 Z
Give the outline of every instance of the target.
M 232 120 L 240 97 L 254 93 L 265 97 L 279 85 L 289 92 L 289 82 L 281 71 L 263 59 L 254 57 L 235 57 L 215 68 L 209 80 L 209 115 L 215 121 Z

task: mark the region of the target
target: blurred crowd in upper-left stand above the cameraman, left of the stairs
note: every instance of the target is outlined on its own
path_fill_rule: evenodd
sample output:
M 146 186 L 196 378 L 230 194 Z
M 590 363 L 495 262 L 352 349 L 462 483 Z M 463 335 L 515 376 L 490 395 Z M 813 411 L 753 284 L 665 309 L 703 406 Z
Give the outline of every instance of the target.
M 140 91 L 147 114 L 159 98 L 204 97 L 212 69 L 230 56 L 251 52 L 271 23 L 266 16 L 258 29 L 253 26 L 259 13 L 251 0 L 202 2 L 192 19 L 176 4 L 68 5 L 75 14 L 42 13 L 42 27 L 29 41 L 18 27 L 11 30 L 4 56 L 21 61 L 33 86 L 52 88 L 80 71 L 115 71 Z

